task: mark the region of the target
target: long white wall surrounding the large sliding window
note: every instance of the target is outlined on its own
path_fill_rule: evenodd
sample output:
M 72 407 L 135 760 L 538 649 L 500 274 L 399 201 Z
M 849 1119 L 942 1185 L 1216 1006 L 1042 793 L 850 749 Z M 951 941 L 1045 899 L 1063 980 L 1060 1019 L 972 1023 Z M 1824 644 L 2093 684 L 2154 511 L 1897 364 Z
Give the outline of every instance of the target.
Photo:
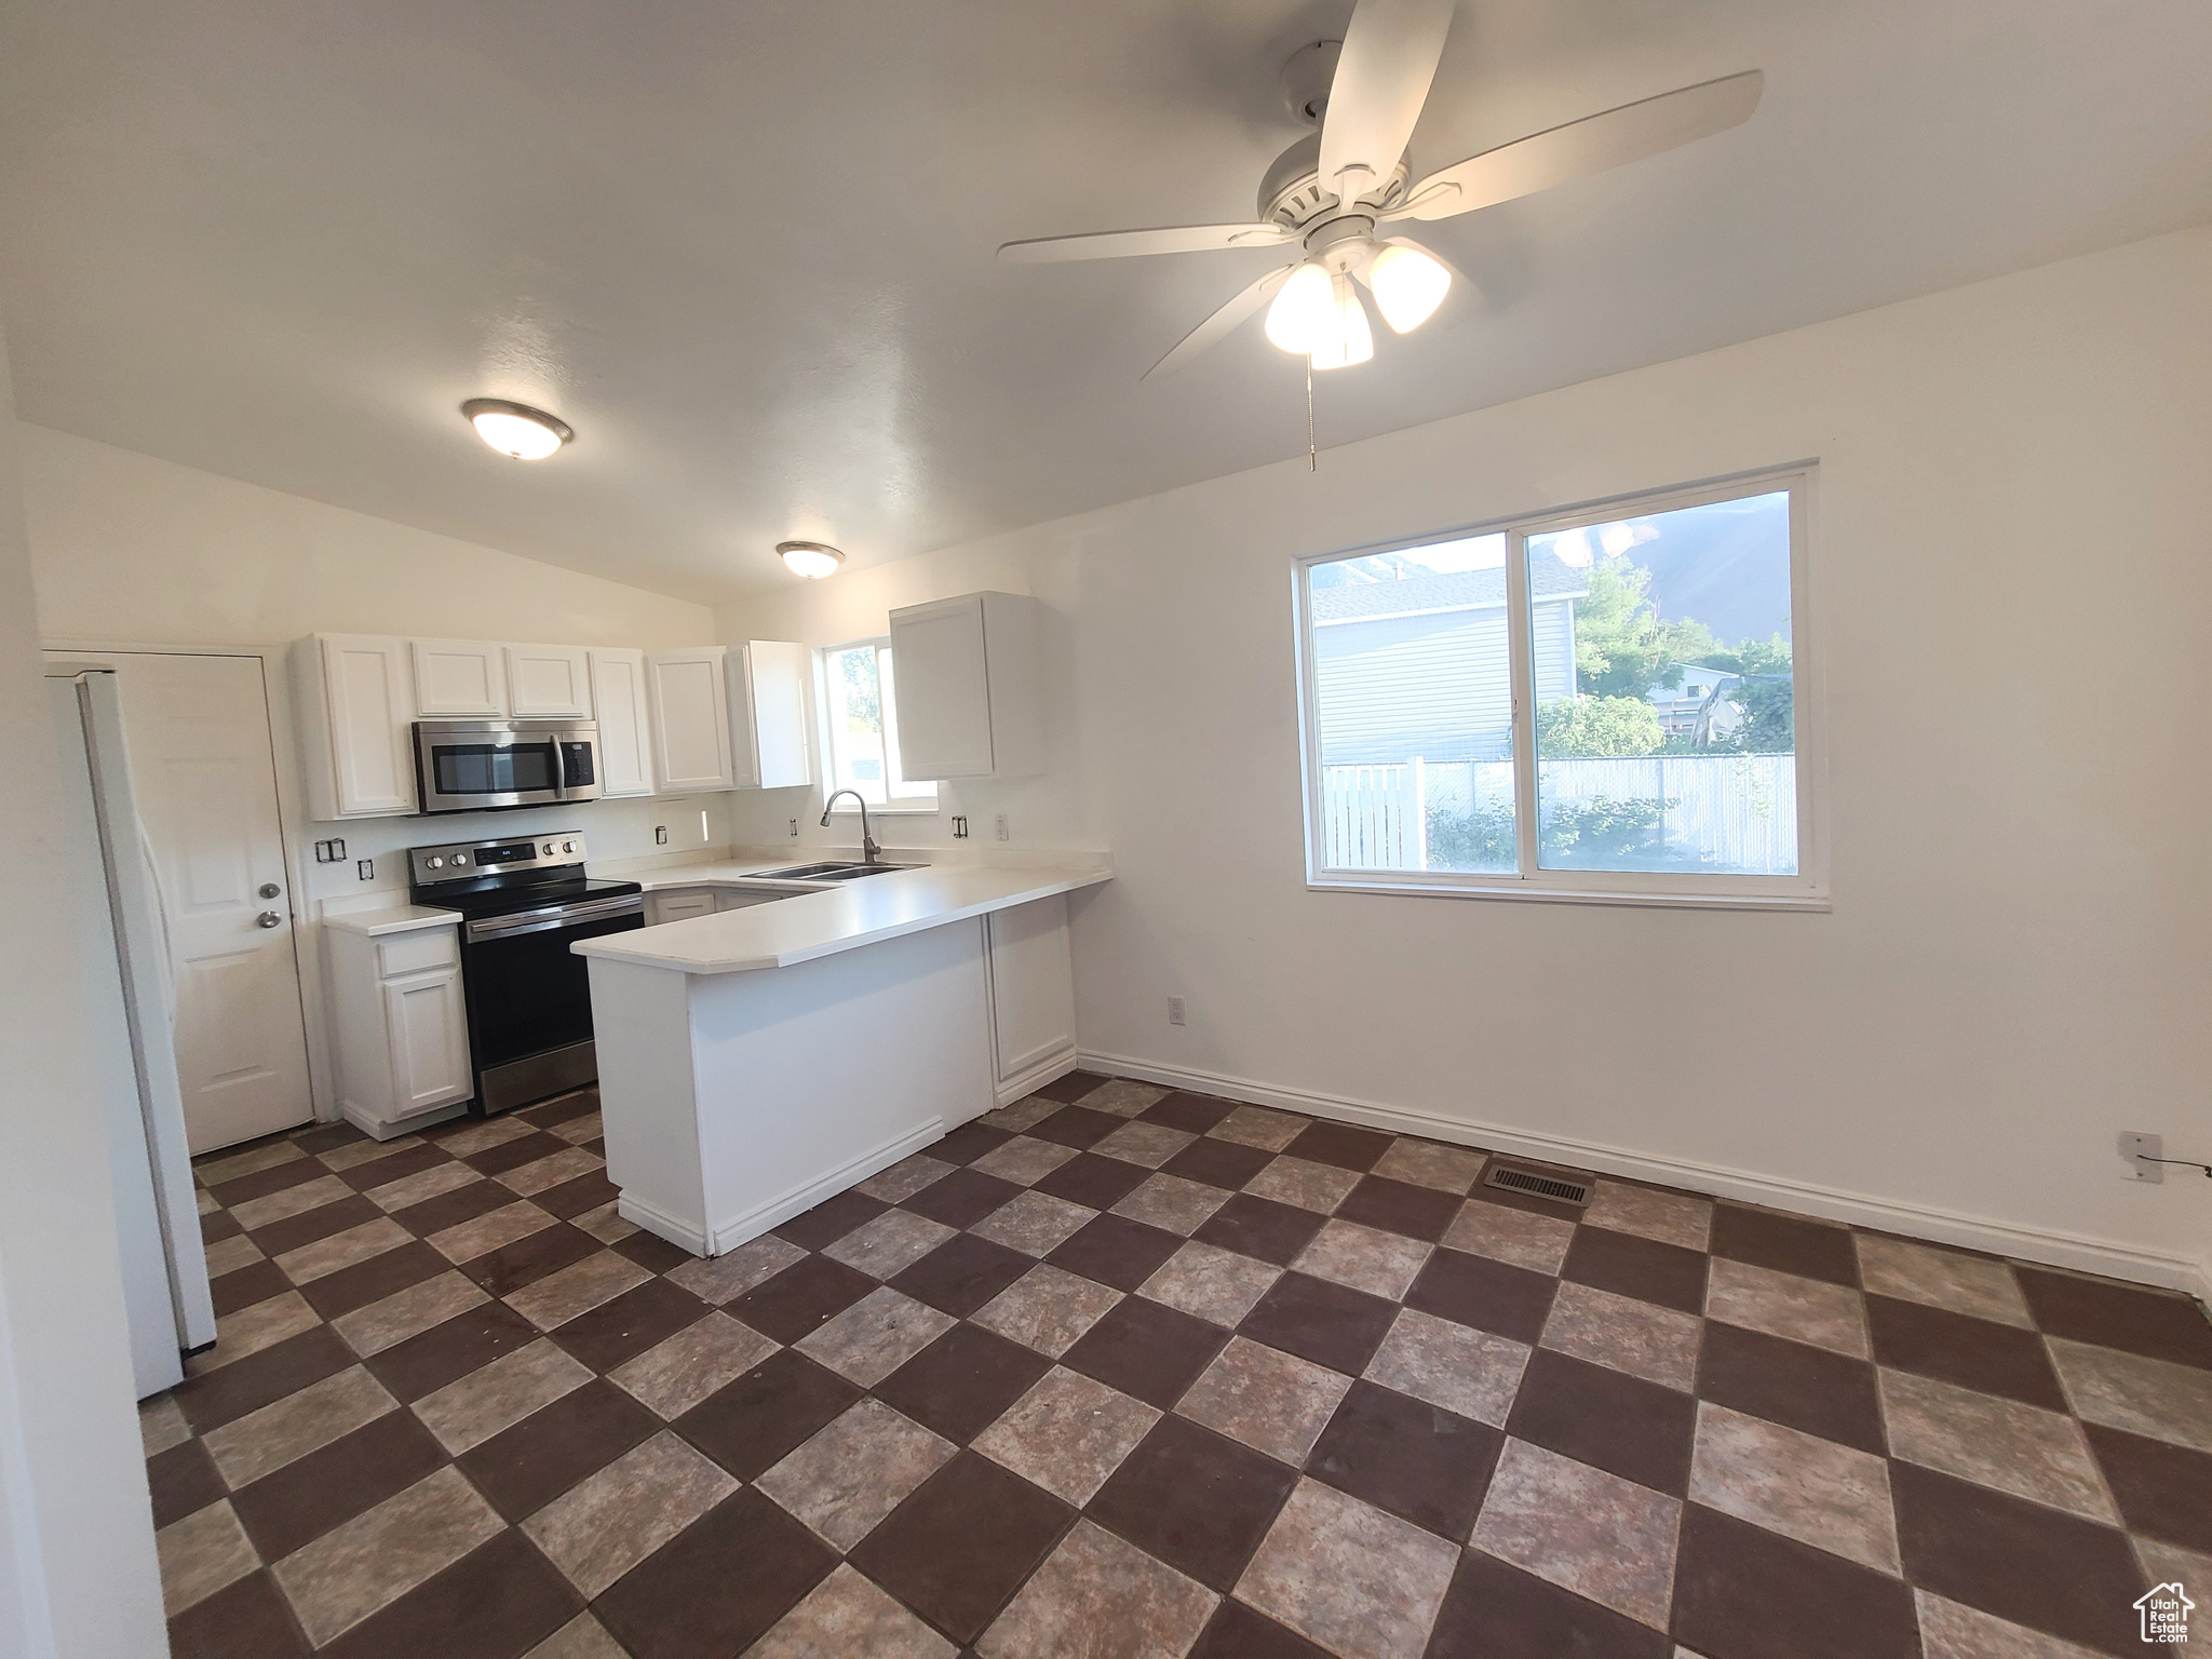
M 2212 1157 L 2208 292 L 2194 230 L 717 619 L 1055 588 L 1079 737 L 1022 799 L 1115 854 L 1106 1064 L 2203 1290 L 2212 1183 L 2115 1135 Z M 1296 555 L 1807 458 L 1834 914 L 1305 889 Z

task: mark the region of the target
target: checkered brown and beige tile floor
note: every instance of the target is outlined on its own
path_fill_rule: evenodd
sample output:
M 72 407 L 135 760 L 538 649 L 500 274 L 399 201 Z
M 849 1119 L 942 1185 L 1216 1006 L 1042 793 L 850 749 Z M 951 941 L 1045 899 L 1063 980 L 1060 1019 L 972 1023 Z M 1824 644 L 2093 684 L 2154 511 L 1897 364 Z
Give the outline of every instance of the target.
M 695 1261 L 595 1106 L 201 1164 L 179 1659 L 2057 1659 L 2212 1608 L 2181 1296 L 1082 1073 Z

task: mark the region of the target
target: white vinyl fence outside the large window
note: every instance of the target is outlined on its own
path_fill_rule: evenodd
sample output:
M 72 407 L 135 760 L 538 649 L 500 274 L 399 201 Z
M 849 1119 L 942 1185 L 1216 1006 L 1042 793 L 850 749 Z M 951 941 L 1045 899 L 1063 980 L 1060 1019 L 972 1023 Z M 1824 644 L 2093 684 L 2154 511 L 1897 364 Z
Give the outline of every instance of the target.
M 1648 754 L 1540 761 L 1546 807 L 1657 801 L 1659 836 L 1679 867 L 1743 876 L 1796 872 L 1796 757 Z M 1429 807 L 1464 814 L 1513 799 L 1509 761 L 1407 761 L 1321 768 L 1329 869 L 1427 869 Z

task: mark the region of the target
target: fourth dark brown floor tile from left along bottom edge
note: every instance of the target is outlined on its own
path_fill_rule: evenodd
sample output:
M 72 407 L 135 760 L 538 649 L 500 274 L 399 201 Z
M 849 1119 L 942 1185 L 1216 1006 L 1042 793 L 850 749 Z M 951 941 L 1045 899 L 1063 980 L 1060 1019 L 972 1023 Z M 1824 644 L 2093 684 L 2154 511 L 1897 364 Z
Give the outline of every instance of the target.
M 1075 1511 L 1051 1493 L 962 1451 L 847 1559 L 964 1644 L 982 1635 L 1073 1520 Z

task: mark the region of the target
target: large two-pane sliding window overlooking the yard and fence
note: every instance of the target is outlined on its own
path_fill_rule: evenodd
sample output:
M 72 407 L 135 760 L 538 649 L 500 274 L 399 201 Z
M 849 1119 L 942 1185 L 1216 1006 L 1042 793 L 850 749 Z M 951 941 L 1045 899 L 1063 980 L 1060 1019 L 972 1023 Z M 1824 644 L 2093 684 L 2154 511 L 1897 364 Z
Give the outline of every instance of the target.
M 1823 902 L 1807 487 L 1303 560 L 1312 880 Z

